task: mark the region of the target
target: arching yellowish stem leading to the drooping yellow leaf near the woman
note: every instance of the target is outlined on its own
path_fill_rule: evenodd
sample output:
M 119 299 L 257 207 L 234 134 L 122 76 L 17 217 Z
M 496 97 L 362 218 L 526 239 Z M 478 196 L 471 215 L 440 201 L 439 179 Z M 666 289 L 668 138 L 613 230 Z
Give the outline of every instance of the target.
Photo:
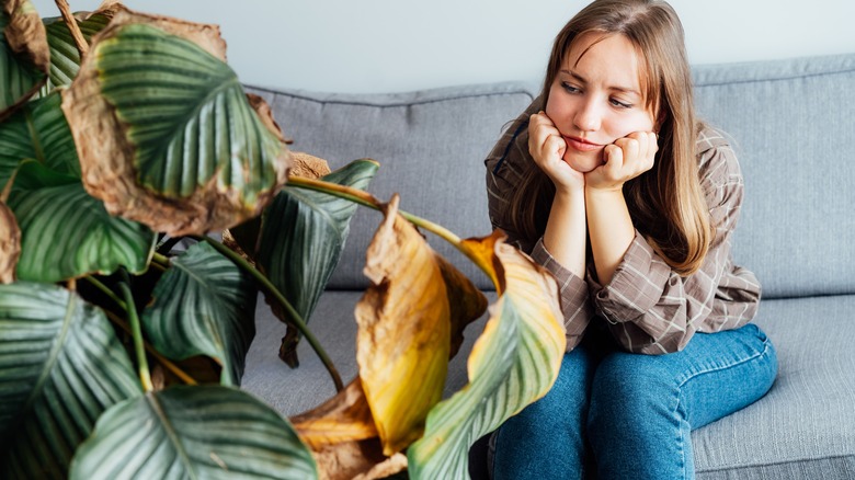
M 352 186 L 339 185 L 338 183 L 324 182 L 322 180 L 306 179 L 301 176 L 289 176 L 287 184 L 299 188 L 314 190 L 316 192 L 322 192 L 329 195 L 334 195 L 340 198 L 349 199 L 351 202 L 366 206 L 368 208 L 374 208 L 375 210 L 381 210 L 381 207 L 384 205 L 374 195 L 365 191 L 354 188 Z M 409 214 L 403 210 L 398 210 L 398 213 L 401 215 L 401 217 L 406 218 L 411 224 L 417 225 L 430 231 L 431 233 L 442 238 L 443 240 L 454 245 L 454 248 L 456 248 L 458 251 L 460 251 L 460 253 L 466 255 L 467 259 L 469 259 L 472 263 L 478 265 L 478 267 L 481 268 L 481 271 L 483 271 L 483 273 L 486 273 L 487 276 L 493 279 L 493 283 L 497 283 L 494 278 L 495 273 L 493 266 L 490 265 L 481 255 L 478 255 L 471 248 L 469 248 L 468 244 L 464 243 L 464 241 L 460 240 L 460 237 L 456 236 L 447 228 L 434 224 L 433 221 L 426 220 L 424 218 L 418 217 L 415 215 Z

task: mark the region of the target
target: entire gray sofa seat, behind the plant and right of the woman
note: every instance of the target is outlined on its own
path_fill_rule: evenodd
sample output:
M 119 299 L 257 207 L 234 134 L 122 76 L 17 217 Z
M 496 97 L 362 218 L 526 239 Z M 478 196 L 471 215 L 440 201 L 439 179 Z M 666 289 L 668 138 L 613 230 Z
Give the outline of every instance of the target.
M 309 323 L 349 382 L 356 375 L 356 322 L 361 292 L 327 292 Z M 489 295 L 490 301 L 495 295 Z M 756 403 L 692 434 L 697 478 L 855 478 L 855 295 L 764 300 L 756 323 L 778 353 L 772 390 Z M 466 357 L 487 316 L 470 324 L 449 365 L 445 396 L 466 385 Z M 242 388 L 283 415 L 317 407 L 335 392 L 307 342 L 300 367 L 276 356 L 285 327 L 259 301 L 258 333 L 247 357 Z

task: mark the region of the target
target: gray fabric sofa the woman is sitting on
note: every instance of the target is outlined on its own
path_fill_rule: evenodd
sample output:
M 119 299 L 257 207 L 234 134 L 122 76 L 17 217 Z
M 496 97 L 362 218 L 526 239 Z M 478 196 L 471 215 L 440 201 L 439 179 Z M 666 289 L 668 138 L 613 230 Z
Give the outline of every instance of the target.
M 734 242 L 763 284 L 756 323 L 778 348 L 766 397 L 692 435 L 699 479 L 855 479 L 855 54 L 694 68 L 702 116 L 729 133 L 745 178 Z M 334 169 L 369 157 L 371 191 L 461 237 L 486 236 L 482 160 L 534 85 L 495 83 L 385 95 L 251 88 L 293 148 Z M 364 251 L 380 216 L 361 210 L 310 328 L 345 381 L 356 374 L 353 306 L 367 281 Z M 489 281 L 437 238 L 431 243 L 489 290 Z M 491 299 L 494 298 L 490 296 Z M 471 324 L 446 387 L 466 384 Z M 304 344 L 301 366 L 276 357 L 284 328 L 260 302 L 243 388 L 284 415 L 333 395 Z M 474 457 L 480 458 L 478 455 Z M 474 461 L 474 477 L 483 465 Z

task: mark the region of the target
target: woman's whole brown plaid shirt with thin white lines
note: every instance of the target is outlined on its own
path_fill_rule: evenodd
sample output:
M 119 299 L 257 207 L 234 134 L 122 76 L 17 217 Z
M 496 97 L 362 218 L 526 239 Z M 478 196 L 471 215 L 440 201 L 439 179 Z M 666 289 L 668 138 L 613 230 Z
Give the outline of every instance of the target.
M 539 99 L 504 132 L 487 165 L 487 193 L 493 228 L 555 275 L 560 286 L 567 328 L 567 350 L 582 340 L 594 318 L 606 321 L 614 338 L 628 351 L 663 354 L 682 350 L 695 332 L 742 327 L 756 313 L 760 283 L 754 274 L 733 265 L 731 233 L 742 204 L 739 162 L 728 141 L 706 128 L 697 139 L 700 185 L 709 206 L 716 237 L 700 268 L 681 277 L 636 230 L 608 285 L 600 285 L 589 262 L 585 278 L 561 266 L 539 238 L 523 238 L 511 228 L 510 202 L 522 181 L 528 153 L 528 117 L 543 108 Z

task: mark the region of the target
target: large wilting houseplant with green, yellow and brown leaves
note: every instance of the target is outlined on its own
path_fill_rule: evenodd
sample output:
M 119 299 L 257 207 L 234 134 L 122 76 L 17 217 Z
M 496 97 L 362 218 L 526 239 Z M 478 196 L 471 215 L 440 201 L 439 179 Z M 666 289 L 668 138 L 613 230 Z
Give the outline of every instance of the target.
M 374 198 L 377 162 L 327 173 L 290 152 L 216 26 L 57 5 L 42 20 L 3 0 L 0 24 L 2 475 L 459 478 L 476 438 L 548 390 L 557 287 L 501 233 L 460 240 Z M 383 220 L 345 387 L 306 320 L 357 205 Z M 446 401 L 448 357 L 487 305 L 417 226 L 499 293 L 470 382 Z M 221 229 L 230 247 L 206 235 Z M 258 292 L 340 390 L 290 420 L 236 388 Z

